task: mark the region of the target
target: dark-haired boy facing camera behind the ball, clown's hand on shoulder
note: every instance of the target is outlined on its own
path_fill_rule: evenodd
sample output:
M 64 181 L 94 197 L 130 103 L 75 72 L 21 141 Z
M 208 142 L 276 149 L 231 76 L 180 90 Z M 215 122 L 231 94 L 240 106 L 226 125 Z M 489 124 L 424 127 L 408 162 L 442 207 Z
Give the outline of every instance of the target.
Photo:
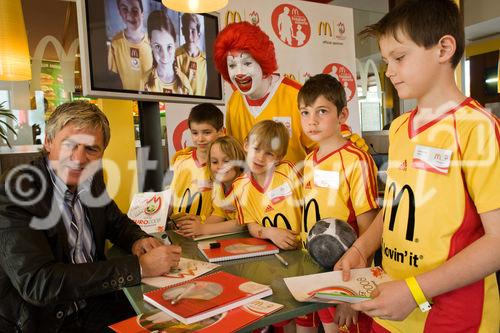
M 333 76 L 318 74 L 299 91 L 302 129 L 318 143 L 304 161 L 304 211 L 301 238 L 320 219 L 336 218 L 363 234 L 377 214 L 377 167 L 371 156 L 346 140 L 341 125 L 349 116 L 344 87 Z M 348 305 L 318 312 L 325 332 L 347 326 L 353 332 L 369 332 L 371 319 Z

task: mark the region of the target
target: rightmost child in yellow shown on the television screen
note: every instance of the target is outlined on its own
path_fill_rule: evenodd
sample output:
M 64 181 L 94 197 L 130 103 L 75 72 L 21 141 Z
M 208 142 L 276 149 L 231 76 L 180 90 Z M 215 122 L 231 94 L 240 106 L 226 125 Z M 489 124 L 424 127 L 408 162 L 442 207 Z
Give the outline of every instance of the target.
M 193 94 L 205 96 L 207 56 L 198 45 L 201 37 L 200 17 L 196 14 L 184 13 L 181 22 L 181 31 L 186 43 L 175 51 L 177 66 L 189 80 Z

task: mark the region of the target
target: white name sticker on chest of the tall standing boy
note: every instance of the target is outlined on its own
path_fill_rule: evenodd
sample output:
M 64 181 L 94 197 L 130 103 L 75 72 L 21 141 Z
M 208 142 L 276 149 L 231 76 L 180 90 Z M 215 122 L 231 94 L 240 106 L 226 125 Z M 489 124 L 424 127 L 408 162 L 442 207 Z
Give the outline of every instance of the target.
M 446 175 L 450 169 L 452 151 L 417 145 L 413 152 L 412 166 L 415 169 Z

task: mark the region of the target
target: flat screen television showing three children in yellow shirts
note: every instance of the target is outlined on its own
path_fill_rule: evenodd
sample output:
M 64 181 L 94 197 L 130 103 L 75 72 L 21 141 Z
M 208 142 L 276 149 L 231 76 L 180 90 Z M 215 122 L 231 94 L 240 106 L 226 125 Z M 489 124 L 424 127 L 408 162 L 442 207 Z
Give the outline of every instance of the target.
M 77 4 L 85 96 L 223 104 L 216 13 L 179 13 L 160 0 Z

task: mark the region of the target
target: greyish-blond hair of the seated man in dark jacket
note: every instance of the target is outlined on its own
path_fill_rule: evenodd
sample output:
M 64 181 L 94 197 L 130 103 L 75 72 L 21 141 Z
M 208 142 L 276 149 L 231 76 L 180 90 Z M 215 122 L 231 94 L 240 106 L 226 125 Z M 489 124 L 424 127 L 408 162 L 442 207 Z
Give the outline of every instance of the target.
M 45 125 L 47 140 L 52 141 L 56 134 L 70 123 L 77 128 L 100 129 L 103 134 L 104 148 L 108 146 L 111 138 L 109 121 L 97 105 L 86 101 L 74 101 L 59 105 Z

